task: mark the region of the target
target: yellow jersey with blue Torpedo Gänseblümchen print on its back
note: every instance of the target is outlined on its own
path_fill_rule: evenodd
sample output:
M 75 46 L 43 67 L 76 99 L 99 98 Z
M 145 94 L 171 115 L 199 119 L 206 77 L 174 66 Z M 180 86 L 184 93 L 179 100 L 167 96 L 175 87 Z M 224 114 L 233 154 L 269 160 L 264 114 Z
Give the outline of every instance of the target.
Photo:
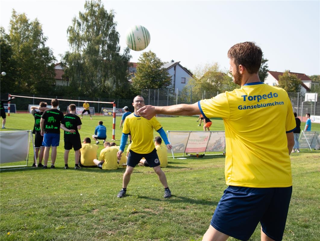
M 254 82 L 200 100 L 198 106 L 204 116 L 224 121 L 227 185 L 292 186 L 286 133 L 292 132 L 296 123 L 284 89 Z

